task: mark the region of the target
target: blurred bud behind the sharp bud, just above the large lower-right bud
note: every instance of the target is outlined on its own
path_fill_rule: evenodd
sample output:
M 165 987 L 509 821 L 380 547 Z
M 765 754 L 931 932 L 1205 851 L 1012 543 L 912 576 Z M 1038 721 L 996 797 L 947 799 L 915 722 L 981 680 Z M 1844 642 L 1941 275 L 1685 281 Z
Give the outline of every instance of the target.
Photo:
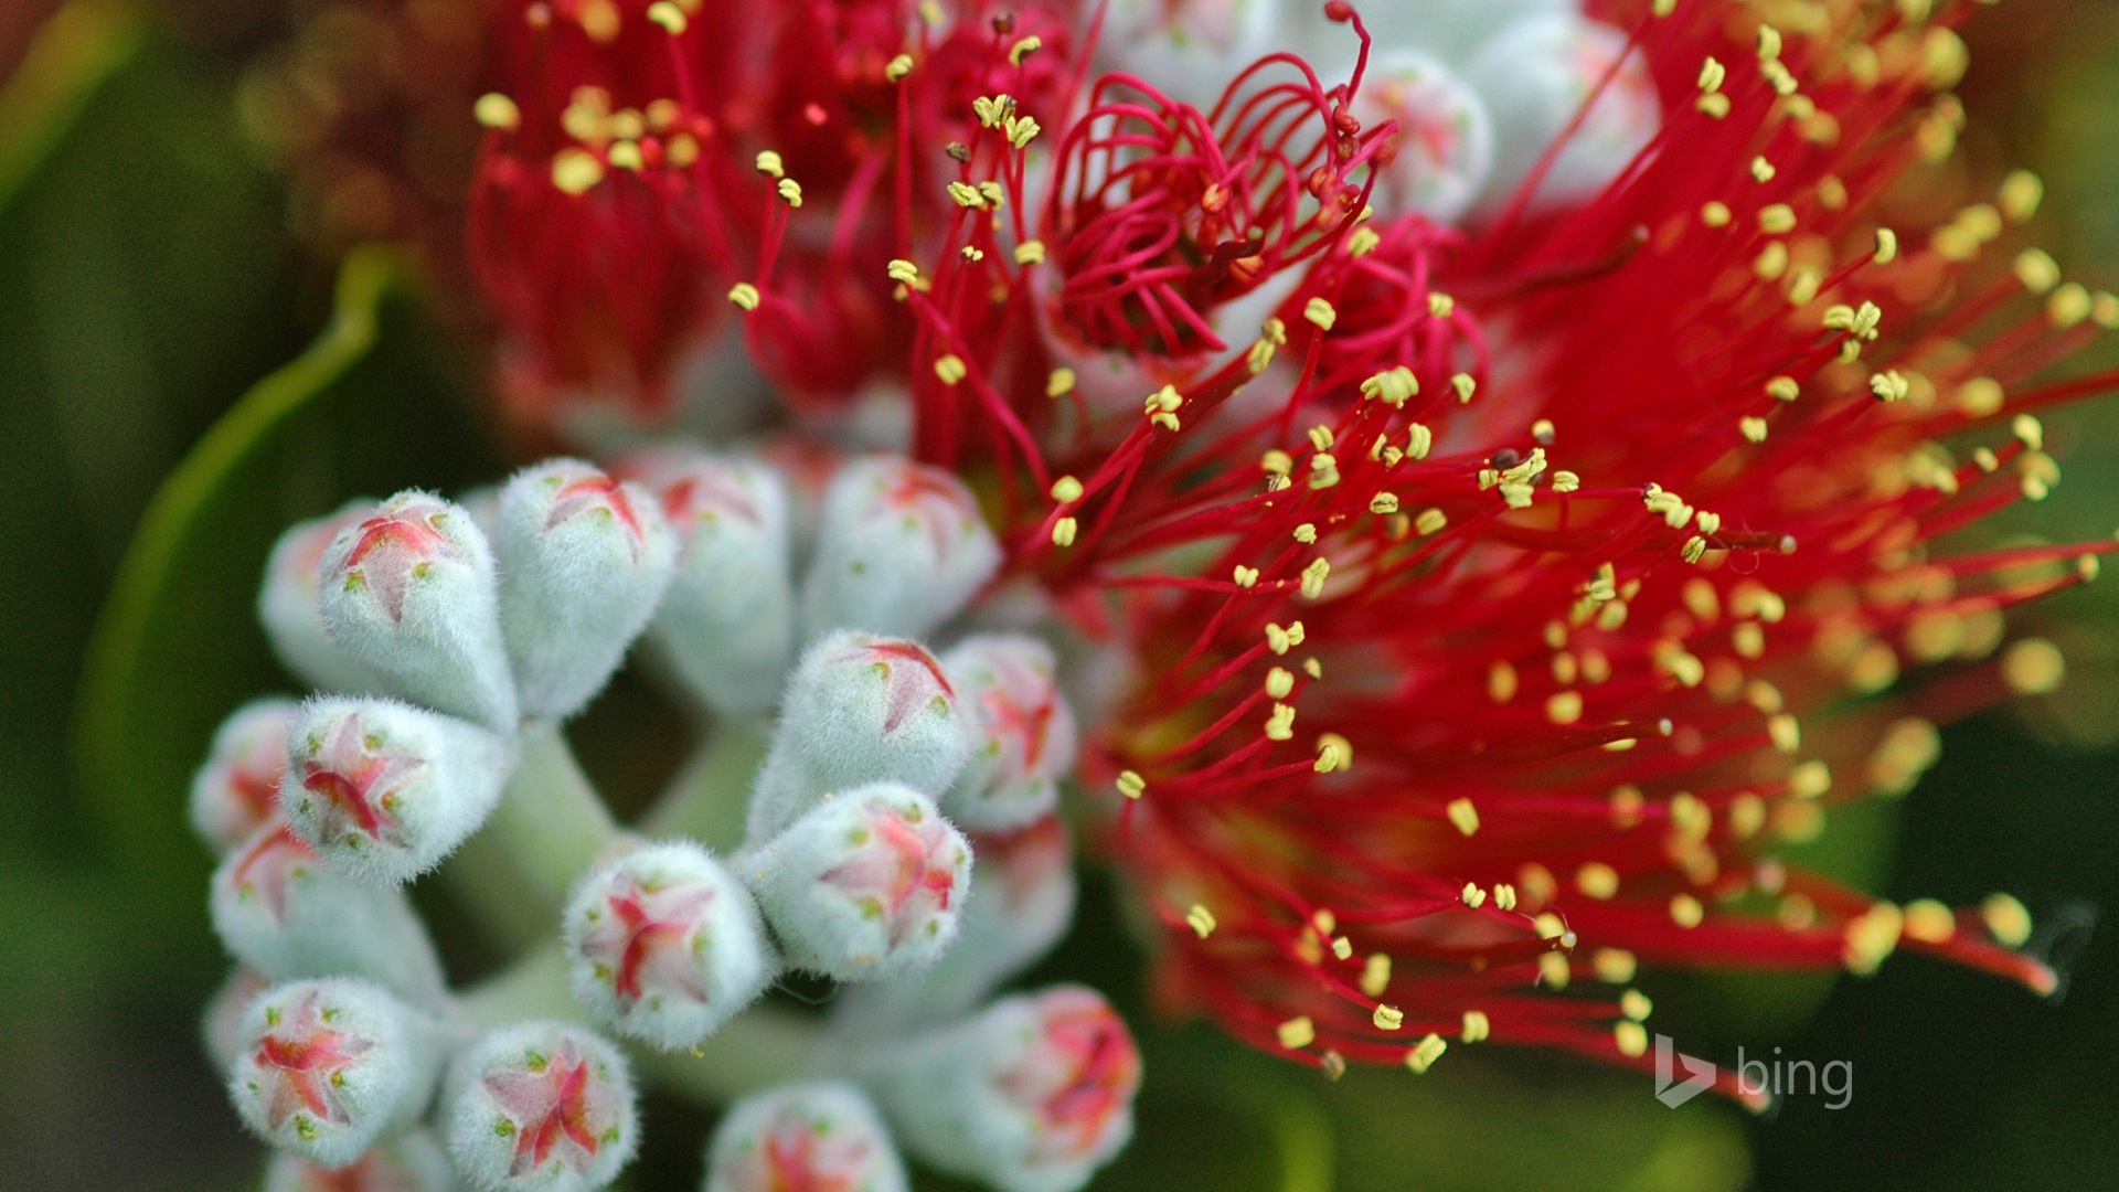
M 1074 848 L 1060 817 L 979 836 L 973 848 L 979 865 L 956 944 L 926 969 L 839 991 L 839 1022 L 886 1031 L 956 1018 L 1066 935 L 1074 921 Z

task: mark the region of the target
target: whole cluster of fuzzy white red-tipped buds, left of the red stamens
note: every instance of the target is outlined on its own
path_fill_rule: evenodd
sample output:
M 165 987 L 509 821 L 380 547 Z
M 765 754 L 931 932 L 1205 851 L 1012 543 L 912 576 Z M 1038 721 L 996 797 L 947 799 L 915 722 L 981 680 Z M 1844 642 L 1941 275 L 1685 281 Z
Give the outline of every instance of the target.
M 892 456 L 621 475 L 356 503 L 271 556 L 265 624 L 320 691 L 237 711 L 191 806 L 242 965 L 208 1046 L 273 1186 L 602 1188 L 659 1077 L 740 1099 L 714 1190 L 905 1188 L 898 1143 L 1083 1186 L 1140 1060 L 1091 991 L 987 1001 L 1072 918 L 1076 730 L 1043 638 L 947 630 L 1000 562 L 971 492 Z M 714 728 L 627 829 L 559 725 L 642 636 Z M 475 836 L 445 876 L 549 929 L 451 988 L 405 887 Z M 759 1005 L 790 971 L 843 982 L 831 1014 Z

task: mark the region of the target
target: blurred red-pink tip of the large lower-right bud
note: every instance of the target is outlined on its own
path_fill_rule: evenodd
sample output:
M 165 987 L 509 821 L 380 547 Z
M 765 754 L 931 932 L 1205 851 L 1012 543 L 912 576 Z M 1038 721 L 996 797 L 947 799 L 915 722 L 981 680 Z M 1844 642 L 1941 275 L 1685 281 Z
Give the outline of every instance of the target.
M 1140 1050 L 1104 999 L 1087 991 L 1053 991 L 1040 999 L 1045 1031 L 1000 1073 L 1000 1090 L 1036 1114 L 1040 1160 L 1087 1156 L 1140 1088 Z

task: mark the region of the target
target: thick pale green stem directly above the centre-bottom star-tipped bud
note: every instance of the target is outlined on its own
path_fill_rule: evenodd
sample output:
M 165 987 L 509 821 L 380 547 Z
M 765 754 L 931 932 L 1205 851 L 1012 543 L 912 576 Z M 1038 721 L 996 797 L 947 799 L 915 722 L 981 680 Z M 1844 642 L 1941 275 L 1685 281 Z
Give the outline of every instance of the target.
M 568 751 L 559 725 L 526 721 L 521 761 L 500 795 L 492 831 L 545 904 L 557 908 L 574 878 L 617 840 L 619 825 Z

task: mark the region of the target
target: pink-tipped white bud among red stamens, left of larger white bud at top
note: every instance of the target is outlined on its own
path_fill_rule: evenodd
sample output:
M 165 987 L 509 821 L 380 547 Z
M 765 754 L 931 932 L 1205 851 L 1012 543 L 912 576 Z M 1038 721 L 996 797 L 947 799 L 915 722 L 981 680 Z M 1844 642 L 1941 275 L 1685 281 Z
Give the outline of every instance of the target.
M 1363 76 L 1354 117 L 1363 127 L 1399 121 L 1377 155 L 1377 216 L 1424 214 L 1454 223 L 1479 197 L 1494 168 L 1494 125 L 1485 104 L 1439 59 L 1394 49 Z

